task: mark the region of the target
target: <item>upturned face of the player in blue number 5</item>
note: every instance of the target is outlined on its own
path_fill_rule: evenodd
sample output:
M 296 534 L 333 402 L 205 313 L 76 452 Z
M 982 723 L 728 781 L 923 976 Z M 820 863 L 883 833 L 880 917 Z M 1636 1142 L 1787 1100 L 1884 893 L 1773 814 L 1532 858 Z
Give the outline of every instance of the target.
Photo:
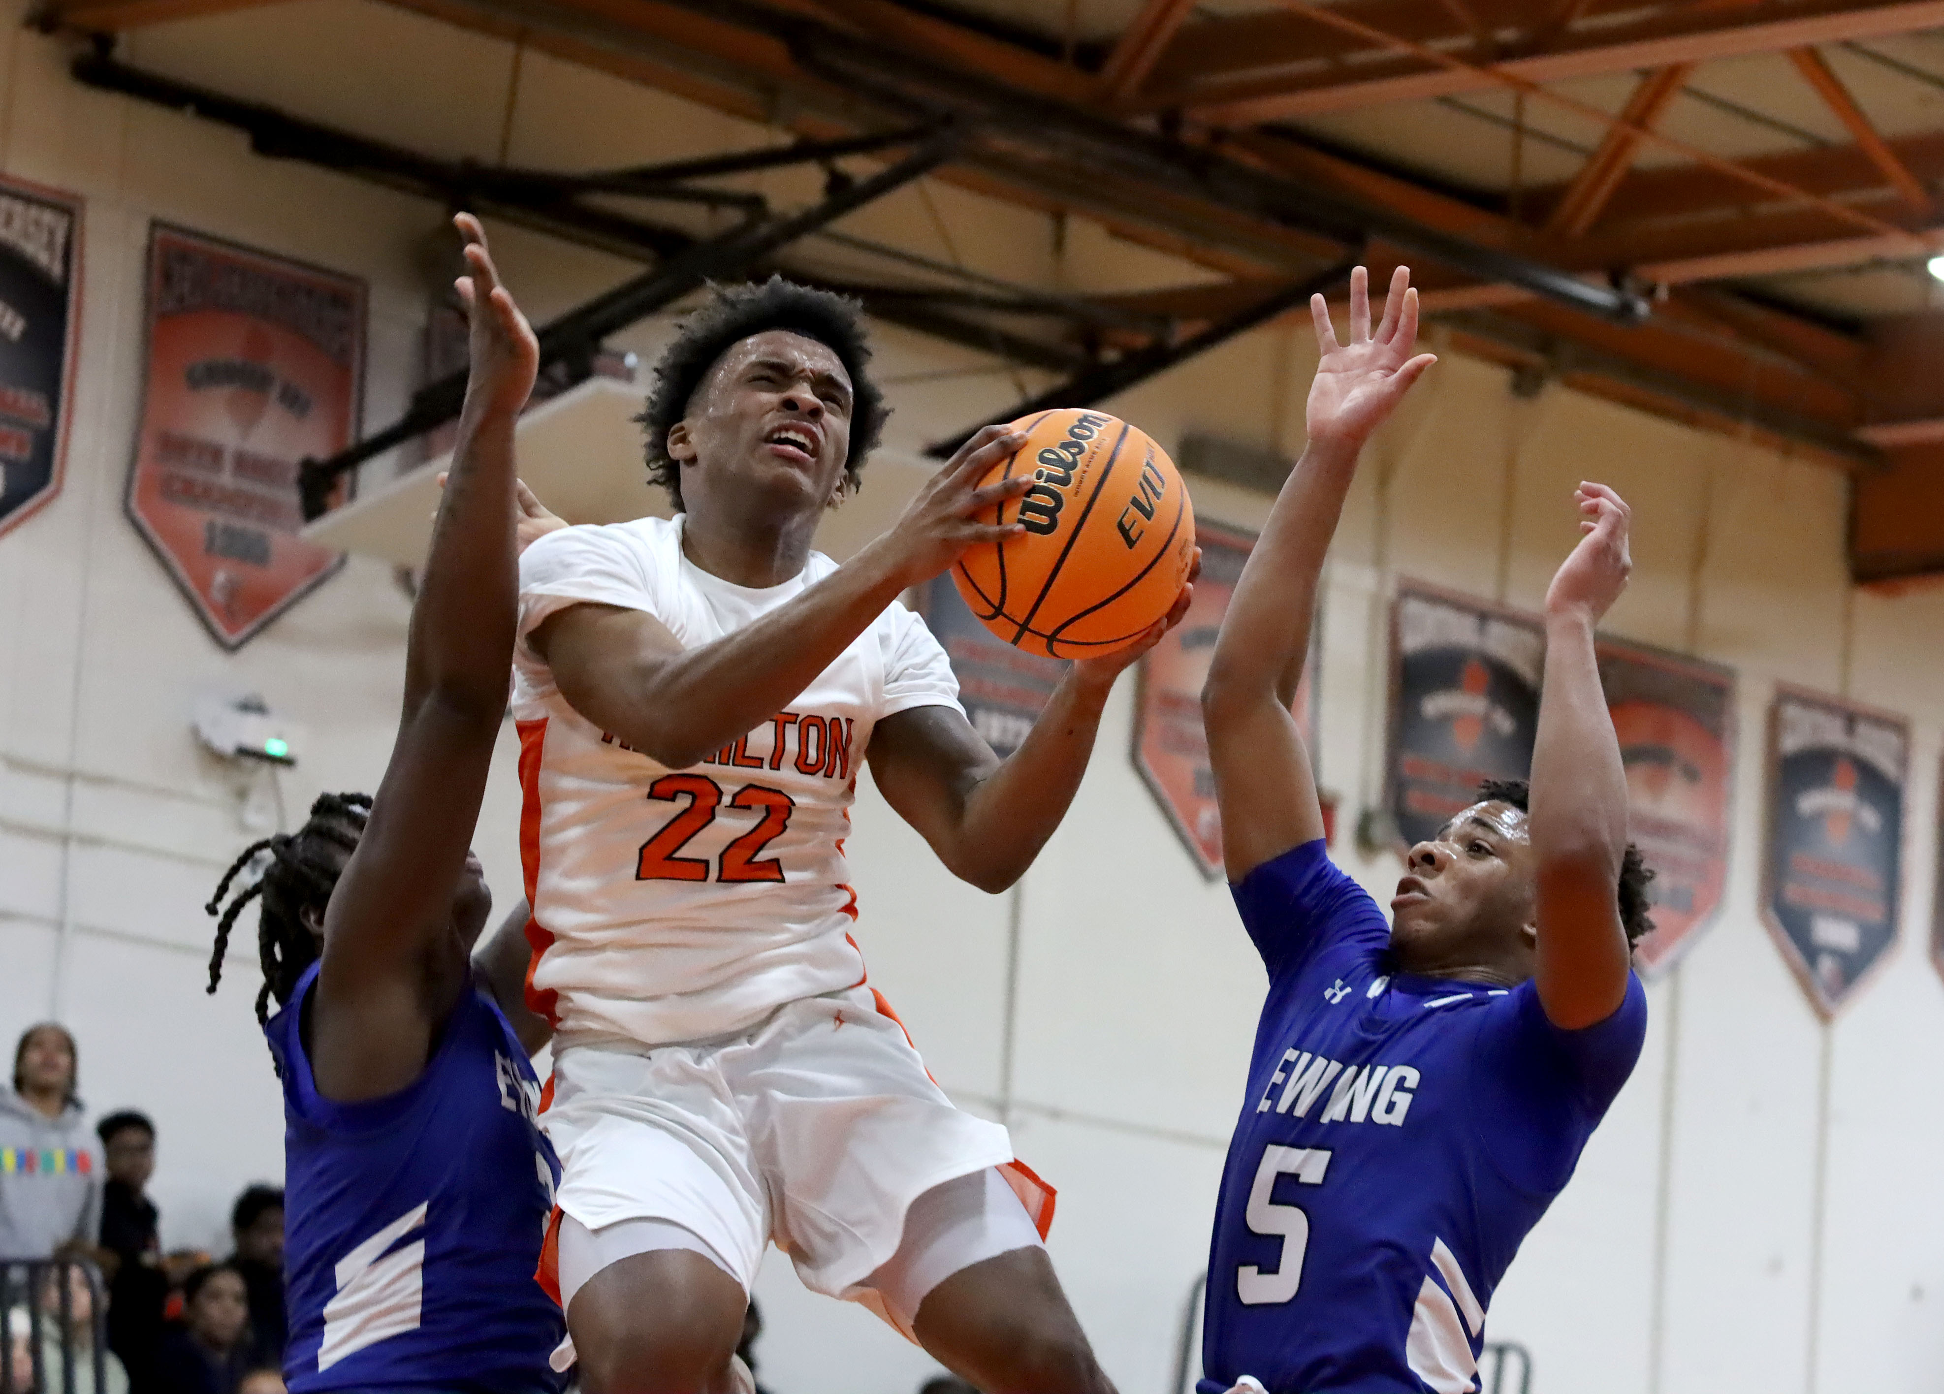
M 1390 900 L 1390 945 L 1406 972 L 1503 966 L 1530 953 L 1532 838 L 1510 803 L 1474 803 L 1411 848 Z

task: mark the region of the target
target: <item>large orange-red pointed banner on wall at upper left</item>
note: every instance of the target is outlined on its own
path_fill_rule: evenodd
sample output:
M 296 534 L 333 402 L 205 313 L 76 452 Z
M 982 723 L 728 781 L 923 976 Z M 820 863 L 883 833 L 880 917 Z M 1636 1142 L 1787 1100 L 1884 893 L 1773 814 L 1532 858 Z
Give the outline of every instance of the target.
M 297 465 L 356 437 L 364 342 L 362 280 L 150 229 L 128 515 L 227 649 L 344 560 L 297 540 Z

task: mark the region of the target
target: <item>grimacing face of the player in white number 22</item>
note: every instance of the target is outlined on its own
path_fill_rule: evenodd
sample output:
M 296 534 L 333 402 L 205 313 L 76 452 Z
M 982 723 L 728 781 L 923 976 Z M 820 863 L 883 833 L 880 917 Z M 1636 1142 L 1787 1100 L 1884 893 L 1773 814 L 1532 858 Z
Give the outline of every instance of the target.
M 725 490 L 797 507 L 838 498 L 850 459 L 851 381 L 836 352 L 781 329 L 723 354 L 669 430 L 690 511 Z

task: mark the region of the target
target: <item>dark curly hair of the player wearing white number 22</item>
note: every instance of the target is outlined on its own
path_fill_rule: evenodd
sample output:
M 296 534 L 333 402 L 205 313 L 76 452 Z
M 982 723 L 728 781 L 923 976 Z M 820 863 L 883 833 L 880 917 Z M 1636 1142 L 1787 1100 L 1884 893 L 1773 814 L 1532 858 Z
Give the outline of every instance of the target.
M 688 401 L 702 379 L 735 344 L 750 334 L 783 329 L 815 338 L 844 364 L 851 379 L 850 457 L 844 486 L 855 490 L 865 459 L 885 434 L 890 408 L 885 393 L 865 373 L 871 344 L 865 340 L 863 303 L 828 290 L 799 286 L 781 276 L 750 286 L 710 286 L 706 305 L 682 319 L 675 342 L 655 364 L 655 385 L 640 422 L 647 449 L 647 482 L 669 490 L 677 511 L 682 507 L 682 467 L 669 459 L 669 428 L 688 414 Z

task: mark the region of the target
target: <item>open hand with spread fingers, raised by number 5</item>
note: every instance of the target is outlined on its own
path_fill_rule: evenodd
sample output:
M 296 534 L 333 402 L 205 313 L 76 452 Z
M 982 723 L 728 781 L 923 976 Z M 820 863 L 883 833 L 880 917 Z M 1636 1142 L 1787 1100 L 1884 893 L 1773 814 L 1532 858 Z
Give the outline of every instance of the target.
M 1371 272 L 1363 266 L 1349 274 L 1349 342 L 1337 342 L 1322 296 L 1310 296 L 1310 319 L 1322 354 L 1310 383 L 1310 441 L 1361 449 L 1411 383 L 1439 362 L 1437 354 L 1411 354 L 1417 346 L 1417 292 L 1409 266 L 1392 272 L 1376 332 L 1371 332 Z

